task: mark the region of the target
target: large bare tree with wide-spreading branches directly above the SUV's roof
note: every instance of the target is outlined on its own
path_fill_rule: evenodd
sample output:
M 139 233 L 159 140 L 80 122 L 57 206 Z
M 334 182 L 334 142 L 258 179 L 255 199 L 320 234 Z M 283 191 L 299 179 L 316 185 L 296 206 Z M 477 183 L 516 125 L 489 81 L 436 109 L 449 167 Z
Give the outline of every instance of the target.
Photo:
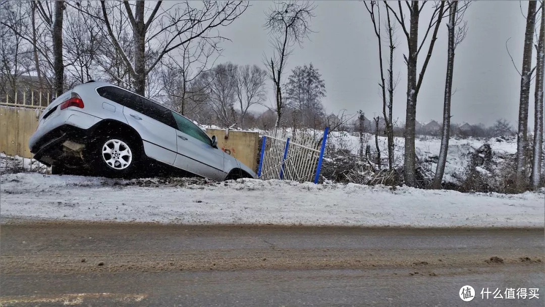
M 205 40 L 215 45 L 225 40 L 217 30 L 230 25 L 247 8 L 247 3 L 240 1 L 195 3 L 179 2 L 165 10 L 162 1 L 149 8 L 143 1 L 123 1 L 122 5 L 101 1 L 98 13 L 93 3 L 80 9 L 106 28 L 110 44 L 129 68 L 135 92 L 144 94 L 147 77 L 166 55 L 193 41 Z M 124 18 L 128 19 L 132 34 L 132 56 L 116 35 L 116 19 Z

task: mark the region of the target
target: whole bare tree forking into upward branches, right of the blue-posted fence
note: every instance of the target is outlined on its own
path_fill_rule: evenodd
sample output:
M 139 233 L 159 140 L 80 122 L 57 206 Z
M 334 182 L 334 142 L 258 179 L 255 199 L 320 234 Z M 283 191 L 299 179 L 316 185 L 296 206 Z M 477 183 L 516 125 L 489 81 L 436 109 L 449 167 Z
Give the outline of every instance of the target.
M 426 73 L 426 68 L 428 67 L 429 59 L 432 56 L 433 47 L 435 45 L 435 40 L 437 40 L 437 32 L 439 30 L 439 25 L 441 20 L 443 20 L 443 15 L 445 12 L 445 1 L 441 1 L 435 4 L 435 7 L 432 12 L 432 16 L 429 19 L 424 37 L 419 43 L 418 33 L 419 33 L 419 20 L 420 13 L 422 12 L 423 7 L 428 2 L 422 2 L 420 6 L 419 1 L 405 1 L 407 4 L 407 10 L 409 14 L 409 20 L 405 20 L 405 15 L 403 11 L 403 2 L 397 2 L 398 9 L 394 9 L 385 2 L 387 9 L 396 17 L 397 22 L 401 25 L 403 33 L 407 38 L 407 46 L 409 49 L 408 56 L 404 55 L 405 64 L 407 64 L 407 111 L 405 114 L 405 156 L 404 156 L 404 179 L 405 184 L 409 186 L 416 186 L 416 153 L 415 153 L 415 125 L 416 125 L 416 101 L 422 85 L 424 74 Z M 406 24 L 409 23 L 409 25 Z M 418 57 L 420 51 L 426 39 L 428 38 L 429 32 L 432 31 L 431 40 L 429 41 L 429 46 L 427 49 L 425 60 L 420 69 L 420 74 L 417 76 L 418 69 Z

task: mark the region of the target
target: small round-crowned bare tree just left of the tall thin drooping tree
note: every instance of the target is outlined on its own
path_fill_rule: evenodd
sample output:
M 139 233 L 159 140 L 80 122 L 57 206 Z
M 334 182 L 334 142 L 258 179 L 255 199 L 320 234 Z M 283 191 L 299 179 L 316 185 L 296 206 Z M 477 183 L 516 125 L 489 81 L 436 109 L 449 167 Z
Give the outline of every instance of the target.
M 240 107 L 239 127 L 245 128 L 244 118 L 252 105 L 262 104 L 267 99 L 265 81 L 267 71 L 257 65 L 239 66 L 235 70 L 235 92 Z

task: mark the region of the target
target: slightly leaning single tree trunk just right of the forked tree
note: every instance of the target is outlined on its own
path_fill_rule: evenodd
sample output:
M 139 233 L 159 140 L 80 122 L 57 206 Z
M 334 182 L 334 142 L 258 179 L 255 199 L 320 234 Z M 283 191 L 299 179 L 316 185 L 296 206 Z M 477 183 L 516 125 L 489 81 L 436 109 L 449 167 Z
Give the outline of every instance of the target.
M 449 47 L 446 60 L 446 80 L 445 80 L 445 100 L 443 104 L 443 134 L 441 136 L 441 149 L 439 151 L 439 160 L 435 169 L 435 177 L 433 178 L 433 189 L 440 189 L 443 182 L 443 174 L 445 172 L 446 156 L 449 151 L 450 138 L 450 101 L 452 97 L 452 74 L 454 70 L 454 30 L 456 26 L 456 13 L 458 10 L 458 1 L 452 1 L 449 9 L 449 23 L 447 23 L 447 31 L 449 37 Z

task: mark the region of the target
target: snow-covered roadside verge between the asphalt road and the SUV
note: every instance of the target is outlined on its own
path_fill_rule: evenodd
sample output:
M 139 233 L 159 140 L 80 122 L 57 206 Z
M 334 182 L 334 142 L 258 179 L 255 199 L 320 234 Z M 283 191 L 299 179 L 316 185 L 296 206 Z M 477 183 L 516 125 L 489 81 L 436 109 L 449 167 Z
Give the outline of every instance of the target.
M 279 180 L 114 180 L 38 173 L 0 176 L 12 219 L 398 227 L 543 227 L 545 198 Z

